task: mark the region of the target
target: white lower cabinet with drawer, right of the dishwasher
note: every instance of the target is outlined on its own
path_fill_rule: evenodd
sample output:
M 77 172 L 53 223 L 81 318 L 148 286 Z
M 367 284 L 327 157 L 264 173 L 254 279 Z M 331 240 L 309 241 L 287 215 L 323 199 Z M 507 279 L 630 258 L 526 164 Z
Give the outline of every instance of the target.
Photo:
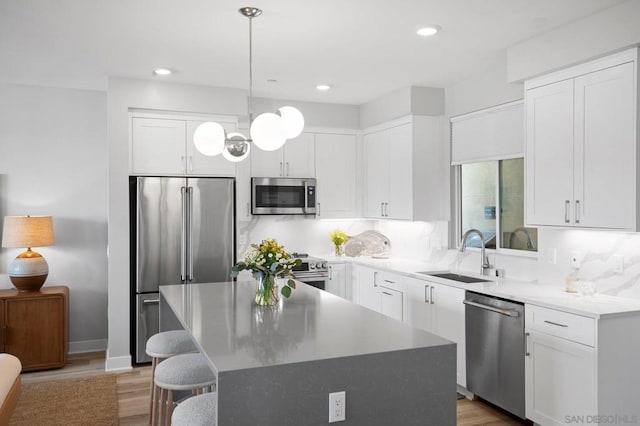
M 540 425 L 640 422 L 640 315 L 525 305 L 526 417 Z

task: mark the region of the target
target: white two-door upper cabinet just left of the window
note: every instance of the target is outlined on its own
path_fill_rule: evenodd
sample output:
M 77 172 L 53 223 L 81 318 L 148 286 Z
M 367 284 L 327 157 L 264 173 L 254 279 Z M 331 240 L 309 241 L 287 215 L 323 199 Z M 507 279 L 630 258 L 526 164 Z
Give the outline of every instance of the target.
M 441 118 L 412 116 L 364 134 L 364 216 L 437 220 L 445 170 Z

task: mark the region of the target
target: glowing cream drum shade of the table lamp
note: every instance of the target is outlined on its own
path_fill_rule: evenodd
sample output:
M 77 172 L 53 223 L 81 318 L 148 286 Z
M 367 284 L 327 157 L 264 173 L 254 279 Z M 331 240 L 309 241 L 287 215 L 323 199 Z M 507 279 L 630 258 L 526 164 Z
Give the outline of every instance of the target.
M 2 247 L 43 247 L 55 243 L 51 216 L 5 216 Z

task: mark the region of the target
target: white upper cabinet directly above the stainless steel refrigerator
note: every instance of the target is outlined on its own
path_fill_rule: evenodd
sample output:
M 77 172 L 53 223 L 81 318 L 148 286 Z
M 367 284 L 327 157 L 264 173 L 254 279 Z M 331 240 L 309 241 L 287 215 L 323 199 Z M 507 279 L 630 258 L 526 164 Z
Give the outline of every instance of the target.
M 229 117 L 215 119 L 227 132 L 236 130 Z M 185 117 L 131 117 L 130 170 L 138 175 L 235 176 L 235 164 L 216 155 L 200 154 L 193 133 L 203 121 Z

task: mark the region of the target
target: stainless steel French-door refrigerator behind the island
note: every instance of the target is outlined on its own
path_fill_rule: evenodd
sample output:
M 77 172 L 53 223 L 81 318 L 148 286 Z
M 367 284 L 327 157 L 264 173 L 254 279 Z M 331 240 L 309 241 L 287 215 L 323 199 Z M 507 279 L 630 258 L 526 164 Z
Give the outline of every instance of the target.
M 159 331 L 159 286 L 230 279 L 235 180 L 132 176 L 129 193 L 131 351 L 143 363 Z

